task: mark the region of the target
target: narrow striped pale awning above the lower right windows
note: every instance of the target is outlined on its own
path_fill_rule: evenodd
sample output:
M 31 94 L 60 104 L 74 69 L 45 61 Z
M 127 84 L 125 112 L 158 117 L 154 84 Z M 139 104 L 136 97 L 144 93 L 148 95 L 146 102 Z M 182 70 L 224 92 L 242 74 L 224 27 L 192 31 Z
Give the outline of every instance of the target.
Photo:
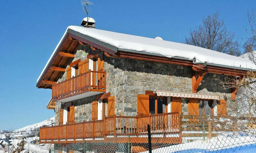
M 183 97 L 183 98 L 199 98 L 199 99 L 216 99 L 219 101 L 219 95 L 211 95 L 211 94 L 199 94 L 199 93 L 183 93 L 183 92 L 175 92 L 175 91 L 162 91 L 157 90 L 154 91 L 158 96 L 166 96 L 166 97 Z

